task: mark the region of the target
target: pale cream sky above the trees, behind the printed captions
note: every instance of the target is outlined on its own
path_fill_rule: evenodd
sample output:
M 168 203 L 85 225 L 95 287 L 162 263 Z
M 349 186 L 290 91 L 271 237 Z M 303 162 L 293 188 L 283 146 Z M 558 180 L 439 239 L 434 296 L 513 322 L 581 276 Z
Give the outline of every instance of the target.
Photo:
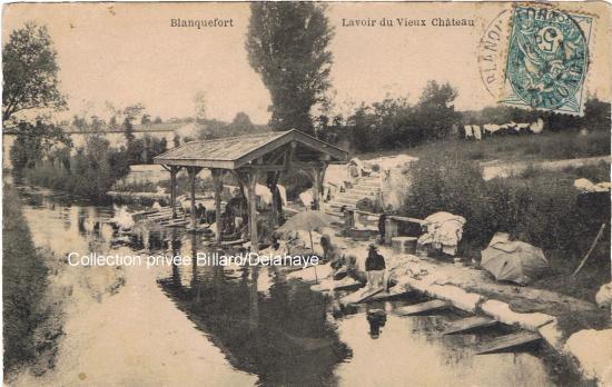
M 504 3 L 330 3 L 335 29 L 330 96 L 334 111 L 386 96 L 415 101 L 430 79 L 458 90 L 455 107 L 495 103 L 478 70 L 478 42 Z M 610 6 L 566 4 L 596 16 L 588 88 L 611 99 Z M 195 115 L 194 97 L 204 91 L 207 116 L 231 120 L 246 112 L 254 122 L 269 119 L 270 98 L 248 64 L 247 3 L 18 3 L 4 6 L 2 40 L 28 20 L 46 24 L 60 66 L 61 91 L 72 115 L 109 116 L 142 103 L 152 117 Z M 178 28 L 171 19 L 233 19 L 233 27 Z M 425 19 L 427 27 L 378 26 L 382 18 Z M 434 27 L 433 18 L 472 19 L 474 27 Z M 344 21 L 343 21 L 344 19 Z M 377 26 L 346 27 L 349 20 Z M 596 38 L 596 40 L 595 40 Z M 599 46 L 598 46 L 599 44 Z

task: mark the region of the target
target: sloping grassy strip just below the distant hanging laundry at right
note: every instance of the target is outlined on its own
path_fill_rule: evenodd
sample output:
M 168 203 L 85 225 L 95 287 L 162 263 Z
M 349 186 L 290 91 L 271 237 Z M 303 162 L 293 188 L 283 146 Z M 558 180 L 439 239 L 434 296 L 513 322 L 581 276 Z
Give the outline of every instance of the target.
M 544 132 L 542 135 L 491 137 L 482 141 L 452 139 L 423 143 L 408 149 L 356 155 L 361 159 L 408 153 L 424 157 L 430 153 L 454 152 L 463 158 L 478 161 L 540 161 L 562 160 L 610 155 L 610 132 L 592 131 L 580 135 L 570 132 Z

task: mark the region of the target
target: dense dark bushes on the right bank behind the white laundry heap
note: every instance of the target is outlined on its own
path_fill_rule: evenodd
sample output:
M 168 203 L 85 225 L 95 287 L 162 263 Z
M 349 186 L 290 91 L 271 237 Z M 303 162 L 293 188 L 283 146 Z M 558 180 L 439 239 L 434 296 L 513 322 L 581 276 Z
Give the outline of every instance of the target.
M 546 252 L 562 251 L 572 261 L 610 218 L 609 196 L 581 204 L 573 176 L 527 168 L 519 177 L 485 182 L 476 162 L 452 153 L 421 159 L 413 167 L 403 212 L 418 218 L 437 211 L 465 217 L 462 252 L 466 246 L 482 249 L 495 232 L 505 231 Z

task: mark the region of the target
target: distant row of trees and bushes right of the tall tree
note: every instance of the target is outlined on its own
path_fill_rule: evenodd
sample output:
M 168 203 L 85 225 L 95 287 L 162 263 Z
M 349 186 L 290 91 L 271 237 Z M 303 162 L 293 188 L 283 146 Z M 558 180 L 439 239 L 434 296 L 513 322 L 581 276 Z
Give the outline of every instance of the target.
M 372 105 L 362 103 L 348 117 L 322 115 L 316 120 L 316 135 L 356 152 L 409 148 L 423 142 L 447 139 L 465 125 L 504 125 L 544 121 L 544 130 L 610 130 L 610 102 L 591 98 L 584 116 L 569 116 L 506 106 L 477 111 L 455 111 L 457 91 L 431 81 L 417 103 L 406 98 L 386 98 Z

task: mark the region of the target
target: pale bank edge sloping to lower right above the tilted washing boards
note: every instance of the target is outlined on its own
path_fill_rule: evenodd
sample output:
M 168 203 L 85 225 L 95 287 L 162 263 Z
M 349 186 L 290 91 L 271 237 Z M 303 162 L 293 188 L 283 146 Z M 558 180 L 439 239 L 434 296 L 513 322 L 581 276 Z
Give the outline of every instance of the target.
M 364 267 L 367 242 L 340 238 L 337 244 L 345 254 L 354 254 L 357 265 Z M 397 282 L 394 294 L 416 291 L 448 301 L 465 312 L 490 316 L 503 324 L 536 333 L 564 358 L 565 364 L 580 369 L 585 379 L 596 379 L 601 385 L 612 383 L 606 363 L 601 361 L 602 358 L 612 358 L 612 349 L 605 339 L 612 333 L 610 309 L 599 309 L 591 300 L 556 291 L 499 282 L 485 270 L 473 266 L 397 254 L 387 247 L 379 247 L 379 251 L 387 258 L 389 277 Z

